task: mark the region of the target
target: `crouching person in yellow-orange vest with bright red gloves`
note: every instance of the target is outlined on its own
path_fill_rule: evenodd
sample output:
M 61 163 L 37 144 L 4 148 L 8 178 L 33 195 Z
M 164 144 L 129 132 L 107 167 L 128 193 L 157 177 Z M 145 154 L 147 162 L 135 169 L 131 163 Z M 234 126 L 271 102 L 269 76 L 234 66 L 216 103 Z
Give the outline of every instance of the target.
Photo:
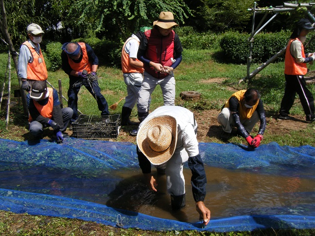
M 257 148 L 266 129 L 266 116 L 261 95 L 258 90 L 249 88 L 232 94 L 218 115 L 218 122 L 222 125 L 224 134 L 222 139 L 227 140 L 232 132 L 232 127 L 237 127 L 237 132 L 244 137 L 248 146 Z M 260 120 L 258 134 L 249 135 L 255 124 Z

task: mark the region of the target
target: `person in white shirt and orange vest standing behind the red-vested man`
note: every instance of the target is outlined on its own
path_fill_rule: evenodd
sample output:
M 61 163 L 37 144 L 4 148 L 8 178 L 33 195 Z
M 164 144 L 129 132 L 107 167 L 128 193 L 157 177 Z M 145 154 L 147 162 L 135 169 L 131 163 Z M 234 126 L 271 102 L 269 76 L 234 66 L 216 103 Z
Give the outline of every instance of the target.
M 139 90 L 143 81 L 143 62 L 137 59 L 140 40 L 150 27 L 142 27 L 136 34 L 129 37 L 122 49 L 123 80 L 127 85 L 127 96 L 122 108 L 122 125 L 139 125 L 130 120 L 132 109 L 138 100 Z M 149 101 L 150 103 L 150 101 Z

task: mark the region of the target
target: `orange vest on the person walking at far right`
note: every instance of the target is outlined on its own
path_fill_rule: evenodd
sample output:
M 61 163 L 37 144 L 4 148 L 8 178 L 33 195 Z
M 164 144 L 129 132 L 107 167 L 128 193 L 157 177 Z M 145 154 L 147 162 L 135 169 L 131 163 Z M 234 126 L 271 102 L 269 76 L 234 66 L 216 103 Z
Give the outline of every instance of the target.
M 288 43 L 286 51 L 285 51 L 284 74 L 286 74 L 286 75 L 305 75 L 307 73 L 306 63 L 298 64 L 290 52 L 291 43 L 294 40 L 300 41 L 298 38 L 292 38 L 289 40 L 289 43 Z M 302 49 L 301 49 L 302 57 L 305 57 L 304 46 L 302 43 L 301 43 L 301 47 L 302 47 Z

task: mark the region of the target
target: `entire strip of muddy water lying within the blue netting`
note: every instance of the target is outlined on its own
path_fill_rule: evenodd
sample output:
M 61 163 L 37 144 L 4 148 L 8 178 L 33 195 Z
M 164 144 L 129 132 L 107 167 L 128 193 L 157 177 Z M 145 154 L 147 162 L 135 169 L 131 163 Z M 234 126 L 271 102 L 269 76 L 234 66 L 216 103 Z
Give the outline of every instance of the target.
M 205 166 L 206 206 L 211 219 L 243 215 L 315 215 L 315 177 L 312 167 L 266 169 L 222 169 Z M 308 173 L 308 174 L 307 174 Z M 153 174 L 156 171 L 153 169 Z M 191 171 L 184 169 L 186 207 L 171 210 L 165 175 L 157 176 L 157 193 L 148 190 L 138 167 L 98 173 L 30 168 L 0 171 L 0 188 L 44 193 L 106 204 L 158 218 L 196 222 L 190 184 Z

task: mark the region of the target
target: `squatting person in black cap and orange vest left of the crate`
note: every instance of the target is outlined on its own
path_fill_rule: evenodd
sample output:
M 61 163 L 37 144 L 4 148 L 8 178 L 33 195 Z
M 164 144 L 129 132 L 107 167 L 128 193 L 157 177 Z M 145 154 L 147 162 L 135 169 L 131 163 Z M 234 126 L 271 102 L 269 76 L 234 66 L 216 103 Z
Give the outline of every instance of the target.
M 31 92 L 27 94 L 27 105 L 30 133 L 35 139 L 41 139 L 43 128 L 46 127 L 53 128 L 53 136 L 57 141 L 69 137 L 63 132 L 68 127 L 73 111 L 70 107 L 61 108 L 57 90 L 47 88 L 45 81 L 35 81 Z

